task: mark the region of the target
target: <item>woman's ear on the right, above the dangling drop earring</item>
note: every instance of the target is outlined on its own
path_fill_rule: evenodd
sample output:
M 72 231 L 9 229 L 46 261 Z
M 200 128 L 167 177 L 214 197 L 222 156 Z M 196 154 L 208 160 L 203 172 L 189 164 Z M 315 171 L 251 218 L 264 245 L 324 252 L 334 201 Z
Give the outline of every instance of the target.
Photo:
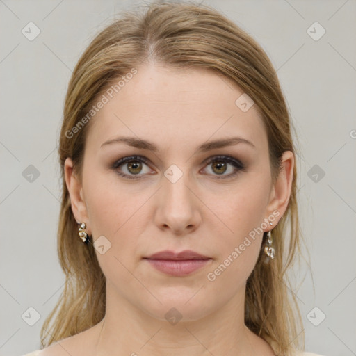
M 282 218 L 286 208 L 288 207 L 289 197 L 291 196 L 291 186 L 293 182 L 294 155 L 291 151 L 286 151 L 282 155 L 282 168 L 277 177 L 277 181 L 272 186 L 270 191 L 270 201 L 266 208 L 266 216 L 274 215 L 273 211 L 278 211 L 280 214 L 273 221 L 273 227 L 277 225 Z M 270 227 L 269 227 L 270 229 Z M 266 230 L 268 231 L 268 229 Z

